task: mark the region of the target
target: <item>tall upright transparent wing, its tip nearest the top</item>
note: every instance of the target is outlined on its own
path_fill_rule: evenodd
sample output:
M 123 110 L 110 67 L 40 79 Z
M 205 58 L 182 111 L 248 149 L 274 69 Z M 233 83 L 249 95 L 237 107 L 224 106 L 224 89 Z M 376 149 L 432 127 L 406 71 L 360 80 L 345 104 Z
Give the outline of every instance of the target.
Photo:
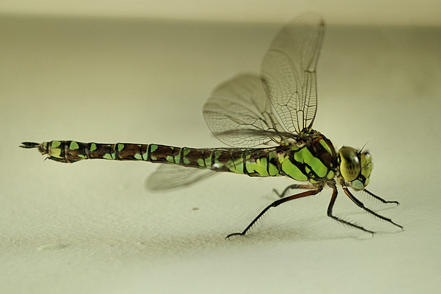
M 263 87 L 288 132 L 299 134 L 314 123 L 316 64 L 324 28 L 316 14 L 305 14 L 278 32 L 263 58 Z

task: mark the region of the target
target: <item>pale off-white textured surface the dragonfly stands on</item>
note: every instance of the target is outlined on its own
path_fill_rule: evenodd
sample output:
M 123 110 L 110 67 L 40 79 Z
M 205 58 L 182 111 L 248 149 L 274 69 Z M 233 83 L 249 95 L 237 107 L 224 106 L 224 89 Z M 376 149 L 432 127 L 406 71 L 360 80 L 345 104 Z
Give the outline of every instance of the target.
M 293 15 L 294 17 L 294 15 Z M 362 213 L 330 191 L 269 213 L 283 179 L 223 174 L 169 193 L 143 189 L 154 165 L 43 161 L 23 140 L 220 145 L 201 107 L 238 72 L 258 71 L 279 27 L 89 19 L 0 20 L 0 284 L 3 293 L 435 293 L 441 30 L 328 23 L 316 129 L 367 144 L 369 188 L 401 202 Z M 194 210 L 194 208 L 198 208 Z

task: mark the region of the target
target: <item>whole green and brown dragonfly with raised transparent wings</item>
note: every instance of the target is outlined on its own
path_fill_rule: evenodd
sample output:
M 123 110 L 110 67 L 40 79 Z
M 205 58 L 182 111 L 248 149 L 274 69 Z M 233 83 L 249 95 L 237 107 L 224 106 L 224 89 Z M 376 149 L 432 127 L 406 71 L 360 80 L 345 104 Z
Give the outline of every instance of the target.
M 316 14 L 294 19 L 269 45 L 260 74 L 239 74 L 216 87 L 203 106 L 203 115 L 212 134 L 229 147 L 195 149 L 75 140 L 23 142 L 20 147 L 36 148 L 57 162 L 99 158 L 161 163 L 147 179 L 147 187 L 153 190 L 189 185 L 216 172 L 295 180 L 243 231 L 227 238 L 248 233 L 269 209 L 314 196 L 325 187 L 332 189 L 327 216 L 349 227 L 375 233 L 334 215 L 338 186 L 367 213 L 403 229 L 365 207 L 349 190 L 364 191 L 383 203 L 399 204 L 366 189 L 372 171 L 369 152 L 347 146 L 336 151 L 331 140 L 312 129 L 317 113 L 316 65 L 324 32 L 325 23 Z M 298 189 L 305 191 L 290 195 L 290 191 Z

